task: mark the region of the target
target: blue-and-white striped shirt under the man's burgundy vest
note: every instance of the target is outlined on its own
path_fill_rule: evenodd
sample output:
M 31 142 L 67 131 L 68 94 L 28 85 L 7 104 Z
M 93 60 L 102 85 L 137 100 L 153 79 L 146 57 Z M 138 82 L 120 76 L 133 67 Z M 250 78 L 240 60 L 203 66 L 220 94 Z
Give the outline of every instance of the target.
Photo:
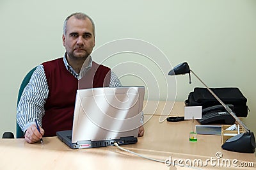
M 72 73 L 76 79 L 81 79 L 83 75 L 92 67 L 92 57 L 90 56 L 84 62 L 81 73 L 76 71 L 68 65 L 67 59 L 63 57 L 63 62 L 68 72 Z M 109 87 L 122 86 L 118 77 L 111 71 Z M 20 97 L 17 106 L 17 123 L 20 128 L 25 132 L 31 125 L 35 124 L 35 119 L 38 124 L 42 126 L 42 118 L 44 116 L 44 105 L 49 95 L 47 79 L 44 72 L 44 66 L 39 65 L 36 67 L 35 72 L 31 76 L 28 85 L 24 88 L 22 96 Z

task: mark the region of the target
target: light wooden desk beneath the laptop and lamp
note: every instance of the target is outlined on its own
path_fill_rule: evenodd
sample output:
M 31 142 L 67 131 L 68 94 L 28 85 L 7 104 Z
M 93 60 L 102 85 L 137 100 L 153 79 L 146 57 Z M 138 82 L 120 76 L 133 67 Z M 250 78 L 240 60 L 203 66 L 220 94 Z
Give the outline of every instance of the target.
M 223 159 L 237 159 L 241 162 L 253 162 L 256 167 L 256 158 L 253 153 L 236 153 L 221 149 L 220 135 L 198 135 L 196 143 L 189 142 L 191 121 L 159 123 L 158 111 L 145 112 L 145 134 L 138 138 L 138 143 L 123 146 L 147 157 L 166 160 L 173 159 L 205 161 L 216 158 L 216 152 L 221 152 Z M 184 114 L 183 102 L 176 102 L 171 114 Z M 24 139 L 0 139 L 0 169 L 191 169 L 189 167 L 165 166 L 137 157 L 131 153 L 121 151 L 115 146 L 106 148 L 92 148 L 72 150 L 62 143 L 58 137 L 45 137 L 44 145 L 40 143 L 28 144 Z M 177 162 L 176 162 L 177 163 Z M 184 164 L 184 162 L 183 162 Z M 253 167 L 236 167 L 236 169 L 253 169 Z M 196 169 L 227 169 L 227 167 L 207 167 Z M 235 167 L 230 167 L 234 169 Z

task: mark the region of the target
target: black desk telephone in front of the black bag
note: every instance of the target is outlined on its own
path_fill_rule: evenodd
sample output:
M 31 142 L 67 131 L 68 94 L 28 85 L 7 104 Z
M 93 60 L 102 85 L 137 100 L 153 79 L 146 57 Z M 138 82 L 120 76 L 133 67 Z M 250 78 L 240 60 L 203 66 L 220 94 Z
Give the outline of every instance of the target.
M 234 105 L 228 105 L 230 109 L 234 109 Z M 200 124 L 228 124 L 232 125 L 235 123 L 235 119 L 229 114 L 223 105 L 214 105 L 202 109 L 202 119 L 198 120 Z

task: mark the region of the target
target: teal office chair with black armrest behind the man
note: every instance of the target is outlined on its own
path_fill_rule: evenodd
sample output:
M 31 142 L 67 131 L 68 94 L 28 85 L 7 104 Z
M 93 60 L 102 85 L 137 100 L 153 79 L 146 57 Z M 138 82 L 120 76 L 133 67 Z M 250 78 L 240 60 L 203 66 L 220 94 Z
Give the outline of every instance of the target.
M 27 86 L 31 75 L 33 74 L 33 72 L 36 70 L 36 67 L 33 68 L 32 70 L 30 70 L 26 76 L 24 77 L 23 81 L 20 84 L 20 89 L 19 89 L 19 93 L 18 93 L 18 99 L 17 99 L 17 105 L 20 102 L 20 97 L 22 95 L 22 92 L 24 90 L 24 88 Z M 21 138 L 24 137 L 23 131 L 21 130 L 21 128 L 19 127 L 17 120 L 16 120 L 16 138 Z M 4 132 L 3 137 L 2 138 L 14 138 L 14 135 L 12 134 L 12 132 Z

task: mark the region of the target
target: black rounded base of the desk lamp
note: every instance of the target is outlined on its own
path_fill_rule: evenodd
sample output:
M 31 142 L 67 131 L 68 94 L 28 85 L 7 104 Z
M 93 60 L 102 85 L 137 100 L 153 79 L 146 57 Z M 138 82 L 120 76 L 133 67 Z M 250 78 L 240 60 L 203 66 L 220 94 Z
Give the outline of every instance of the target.
M 228 139 L 222 146 L 223 150 L 241 153 L 255 152 L 255 137 L 253 132 L 245 132 Z

